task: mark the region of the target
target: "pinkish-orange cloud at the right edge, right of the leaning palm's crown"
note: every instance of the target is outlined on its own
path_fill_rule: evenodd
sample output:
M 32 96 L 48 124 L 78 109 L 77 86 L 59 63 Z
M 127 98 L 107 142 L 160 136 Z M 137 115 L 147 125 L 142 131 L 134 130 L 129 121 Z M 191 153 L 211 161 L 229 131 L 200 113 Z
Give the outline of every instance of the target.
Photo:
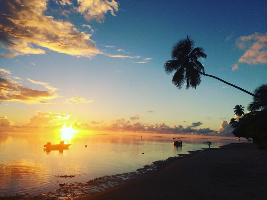
M 239 49 L 246 50 L 238 60 L 240 63 L 267 63 L 267 33 L 256 32 L 249 36 L 241 36 L 237 39 L 236 45 Z

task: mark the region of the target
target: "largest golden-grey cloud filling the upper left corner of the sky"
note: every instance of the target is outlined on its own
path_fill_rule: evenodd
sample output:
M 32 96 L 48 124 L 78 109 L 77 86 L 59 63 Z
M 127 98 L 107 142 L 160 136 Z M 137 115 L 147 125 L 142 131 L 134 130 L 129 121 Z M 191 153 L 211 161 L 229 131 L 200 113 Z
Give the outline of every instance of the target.
M 77 57 L 101 54 L 90 34 L 79 32 L 68 21 L 45 16 L 46 0 L 3 0 L 2 4 L 5 6 L 1 8 L 0 41 L 8 50 L 2 56 L 45 54 L 41 48 Z

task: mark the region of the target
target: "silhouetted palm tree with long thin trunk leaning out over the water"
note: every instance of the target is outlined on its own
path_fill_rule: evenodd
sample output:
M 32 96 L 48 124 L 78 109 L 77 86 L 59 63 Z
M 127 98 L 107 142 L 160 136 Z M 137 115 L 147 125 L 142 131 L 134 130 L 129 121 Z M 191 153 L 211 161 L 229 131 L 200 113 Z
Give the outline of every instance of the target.
M 176 85 L 178 89 L 181 89 L 185 82 L 186 89 L 189 87 L 196 88 L 201 82 L 201 75 L 204 75 L 215 78 L 246 92 L 253 97 L 256 97 L 253 93 L 248 92 L 247 90 L 228 83 L 216 76 L 206 74 L 203 65 L 198 61 L 198 59 L 200 57 L 206 58 L 207 55 L 204 53 L 204 49 L 202 47 L 194 48 L 194 44 L 194 40 L 187 35 L 186 39 L 181 39 L 173 46 L 171 53 L 172 60 L 166 61 L 164 64 L 165 72 L 167 74 L 171 74 L 175 71 L 172 76 L 172 83 Z

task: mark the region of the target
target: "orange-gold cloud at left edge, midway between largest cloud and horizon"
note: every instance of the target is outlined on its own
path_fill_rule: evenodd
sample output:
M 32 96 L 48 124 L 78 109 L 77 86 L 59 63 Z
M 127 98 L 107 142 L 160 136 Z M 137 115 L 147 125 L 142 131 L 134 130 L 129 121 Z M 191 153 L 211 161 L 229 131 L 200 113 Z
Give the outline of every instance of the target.
M 30 80 L 32 83 L 41 84 L 48 89 L 46 90 L 34 90 L 23 87 L 20 82 L 13 80 L 10 76 L 11 72 L 0 69 L 0 100 L 1 101 L 20 101 L 27 103 L 50 103 L 46 100 L 58 97 L 55 92 L 57 88 L 50 86 L 48 83 L 35 82 Z M 15 79 L 18 79 L 15 78 Z

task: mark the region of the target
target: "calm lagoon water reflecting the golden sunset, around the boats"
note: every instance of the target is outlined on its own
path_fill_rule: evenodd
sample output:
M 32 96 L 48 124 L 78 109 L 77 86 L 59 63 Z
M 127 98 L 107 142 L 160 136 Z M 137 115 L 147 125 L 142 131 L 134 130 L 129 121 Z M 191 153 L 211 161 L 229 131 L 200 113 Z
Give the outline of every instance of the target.
M 154 161 L 209 147 L 203 143 L 207 139 L 181 139 L 183 147 L 174 147 L 172 137 L 84 134 L 70 139 L 67 143 L 72 145 L 63 152 L 47 152 L 43 145 L 59 144 L 59 136 L 0 133 L 0 196 L 48 192 L 60 188 L 60 183 L 133 172 Z M 210 148 L 237 142 L 210 141 Z

